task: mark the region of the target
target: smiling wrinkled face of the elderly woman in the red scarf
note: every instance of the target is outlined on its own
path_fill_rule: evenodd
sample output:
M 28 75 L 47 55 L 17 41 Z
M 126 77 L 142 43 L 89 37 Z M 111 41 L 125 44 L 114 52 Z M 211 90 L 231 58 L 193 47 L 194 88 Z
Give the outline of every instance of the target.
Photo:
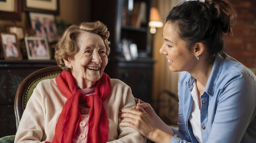
M 83 31 L 76 38 L 76 44 L 79 50 L 69 58 L 72 75 L 76 81 L 96 82 L 108 64 L 103 39 L 97 34 Z

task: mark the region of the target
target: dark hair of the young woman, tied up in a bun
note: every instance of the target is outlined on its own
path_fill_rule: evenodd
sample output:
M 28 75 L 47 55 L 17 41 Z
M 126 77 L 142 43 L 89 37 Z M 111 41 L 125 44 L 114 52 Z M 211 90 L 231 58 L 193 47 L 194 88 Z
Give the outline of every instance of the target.
M 189 3 L 189 4 L 188 4 Z M 232 35 L 236 11 L 225 0 L 183 2 L 175 6 L 166 18 L 177 26 L 178 34 L 191 48 L 196 42 L 207 47 L 209 62 L 224 48 L 225 33 Z

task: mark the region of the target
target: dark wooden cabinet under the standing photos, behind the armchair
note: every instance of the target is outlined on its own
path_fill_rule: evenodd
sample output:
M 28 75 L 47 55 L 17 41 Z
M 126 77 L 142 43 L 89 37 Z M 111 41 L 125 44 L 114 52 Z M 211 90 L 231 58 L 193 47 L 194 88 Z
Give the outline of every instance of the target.
M 29 74 L 57 65 L 55 60 L 0 60 L 0 137 L 16 133 L 14 98 L 20 82 Z

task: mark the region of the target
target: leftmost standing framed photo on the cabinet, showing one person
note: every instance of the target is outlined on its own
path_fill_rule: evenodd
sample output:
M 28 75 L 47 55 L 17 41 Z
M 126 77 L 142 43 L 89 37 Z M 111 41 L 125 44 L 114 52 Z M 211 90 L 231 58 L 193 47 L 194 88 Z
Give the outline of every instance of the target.
M 22 55 L 20 52 L 17 36 L 14 33 L 1 33 L 1 47 L 6 60 L 21 60 Z

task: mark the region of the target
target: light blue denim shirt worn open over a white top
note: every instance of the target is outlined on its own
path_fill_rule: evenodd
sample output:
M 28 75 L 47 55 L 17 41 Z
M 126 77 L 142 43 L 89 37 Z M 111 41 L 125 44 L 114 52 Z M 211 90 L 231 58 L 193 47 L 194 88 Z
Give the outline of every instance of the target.
M 189 122 L 193 82 L 188 72 L 180 74 L 179 130 L 173 129 L 180 138 L 171 143 L 198 143 Z M 201 103 L 203 143 L 256 143 L 256 76 L 225 52 L 216 54 Z

